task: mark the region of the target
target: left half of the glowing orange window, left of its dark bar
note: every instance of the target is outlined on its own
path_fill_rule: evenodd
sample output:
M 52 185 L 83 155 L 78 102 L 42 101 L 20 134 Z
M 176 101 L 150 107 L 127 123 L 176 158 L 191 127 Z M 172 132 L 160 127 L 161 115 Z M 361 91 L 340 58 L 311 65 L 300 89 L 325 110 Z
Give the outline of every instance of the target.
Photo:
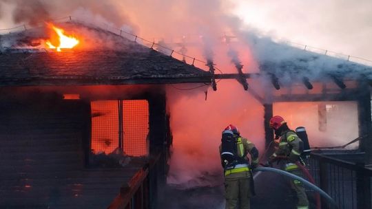
M 111 153 L 118 147 L 118 101 L 94 101 L 91 109 L 92 151 Z

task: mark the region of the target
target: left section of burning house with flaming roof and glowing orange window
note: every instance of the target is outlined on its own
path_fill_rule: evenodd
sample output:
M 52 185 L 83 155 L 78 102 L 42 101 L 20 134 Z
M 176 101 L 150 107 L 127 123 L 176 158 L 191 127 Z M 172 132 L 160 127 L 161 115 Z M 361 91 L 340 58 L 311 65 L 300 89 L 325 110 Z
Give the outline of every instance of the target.
M 153 201 L 171 143 L 164 85 L 207 83 L 209 73 L 103 30 L 63 28 L 57 41 L 48 27 L 10 35 L 0 54 L 1 208 Z M 63 45 L 79 29 L 79 44 Z M 105 44 L 90 50 L 101 43 L 84 31 Z

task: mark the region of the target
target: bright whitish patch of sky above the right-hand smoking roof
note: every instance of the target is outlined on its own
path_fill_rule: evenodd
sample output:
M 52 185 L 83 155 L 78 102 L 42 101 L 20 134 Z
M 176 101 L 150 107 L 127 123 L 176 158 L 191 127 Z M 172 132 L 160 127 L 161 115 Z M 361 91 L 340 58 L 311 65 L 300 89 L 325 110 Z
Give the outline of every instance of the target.
M 239 1 L 235 11 L 271 37 L 372 60 L 372 1 Z

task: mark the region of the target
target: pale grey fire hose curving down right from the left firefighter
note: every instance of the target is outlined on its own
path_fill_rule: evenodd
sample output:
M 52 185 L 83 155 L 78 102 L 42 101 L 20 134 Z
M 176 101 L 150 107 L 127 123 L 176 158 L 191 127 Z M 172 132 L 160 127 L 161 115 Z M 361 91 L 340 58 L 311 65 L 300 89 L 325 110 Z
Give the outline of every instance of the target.
M 313 189 L 313 190 L 316 190 L 320 195 L 322 195 L 322 197 L 324 197 L 325 199 L 327 199 L 327 201 L 329 201 L 333 206 L 334 208 L 338 208 L 335 201 L 332 199 L 332 197 L 330 197 L 326 192 L 324 192 L 322 189 L 318 188 L 318 186 L 314 185 L 314 184 L 311 184 L 309 181 L 303 179 L 302 177 L 298 177 L 297 175 L 293 175 L 287 171 L 284 171 L 284 170 L 280 170 L 280 169 L 277 169 L 277 168 L 269 168 L 269 167 L 258 167 L 256 169 L 254 169 L 255 171 L 258 171 L 258 172 L 273 172 L 273 173 L 278 173 L 280 175 L 284 175 L 285 177 L 289 177 L 291 179 L 296 179 L 298 181 L 301 181 L 302 184 L 304 184 L 305 186 Z

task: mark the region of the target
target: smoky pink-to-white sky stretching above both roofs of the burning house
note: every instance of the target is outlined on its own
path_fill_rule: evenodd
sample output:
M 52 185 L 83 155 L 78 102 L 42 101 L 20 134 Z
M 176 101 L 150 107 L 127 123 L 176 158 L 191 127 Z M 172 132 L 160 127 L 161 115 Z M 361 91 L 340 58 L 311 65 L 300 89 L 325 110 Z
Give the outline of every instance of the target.
M 65 17 L 83 10 L 110 23 L 128 24 L 143 34 L 151 31 L 156 36 L 149 34 L 149 38 L 163 36 L 162 32 L 174 28 L 179 20 L 177 30 L 187 21 L 189 24 L 214 24 L 207 19 L 218 19 L 221 12 L 225 12 L 237 15 L 244 23 L 278 39 L 372 59 L 372 1 L 369 0 L 1 0 L 0 28 L 10 28 L 22 22 L 35 23 L 40 17 Z M 175 39 L 178 38 L 176 34 L 175 31 Z

